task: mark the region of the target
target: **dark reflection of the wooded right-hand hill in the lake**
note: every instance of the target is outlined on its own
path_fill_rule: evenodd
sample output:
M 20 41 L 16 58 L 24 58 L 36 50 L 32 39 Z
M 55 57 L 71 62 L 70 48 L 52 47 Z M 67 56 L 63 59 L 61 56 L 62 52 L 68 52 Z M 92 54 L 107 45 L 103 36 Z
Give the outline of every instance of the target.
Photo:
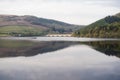
M 106 55 L 120 58 L 120 41 L 86 42 L 85 44 L 92 46 Z

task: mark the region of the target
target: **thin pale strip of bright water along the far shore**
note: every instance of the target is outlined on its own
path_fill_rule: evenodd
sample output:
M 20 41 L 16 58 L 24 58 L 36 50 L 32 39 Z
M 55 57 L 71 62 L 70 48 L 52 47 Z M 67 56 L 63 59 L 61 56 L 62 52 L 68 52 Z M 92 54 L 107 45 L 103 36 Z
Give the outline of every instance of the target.
M 120 41 L 120 38 L 87 38 L 87 37 L 46 37 L 46 36 L 33 36 L 33 37 L 0 37 L 6 40 L 30 40 L 30 41 Z

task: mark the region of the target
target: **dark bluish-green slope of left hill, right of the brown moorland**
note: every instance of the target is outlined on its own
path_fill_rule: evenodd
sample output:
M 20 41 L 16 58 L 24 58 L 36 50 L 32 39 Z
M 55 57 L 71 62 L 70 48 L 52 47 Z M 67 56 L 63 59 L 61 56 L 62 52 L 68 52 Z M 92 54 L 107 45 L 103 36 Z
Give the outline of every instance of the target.
M 33 25 L 42 25 L 45 26 L 46 28 L 49 28 L 50 33 L 71 33 L 83 27 L 52 19 L 37 18 L 34 16 L 27 16 L 25 20 Z

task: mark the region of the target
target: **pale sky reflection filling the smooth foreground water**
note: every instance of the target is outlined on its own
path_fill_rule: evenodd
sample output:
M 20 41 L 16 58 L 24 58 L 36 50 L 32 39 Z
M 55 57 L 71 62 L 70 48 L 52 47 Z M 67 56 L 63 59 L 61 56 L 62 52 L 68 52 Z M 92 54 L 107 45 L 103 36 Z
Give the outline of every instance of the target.
M 0 59 L 0 80 L 119 80 L 120 60 L 74 45 L 33 57 Z

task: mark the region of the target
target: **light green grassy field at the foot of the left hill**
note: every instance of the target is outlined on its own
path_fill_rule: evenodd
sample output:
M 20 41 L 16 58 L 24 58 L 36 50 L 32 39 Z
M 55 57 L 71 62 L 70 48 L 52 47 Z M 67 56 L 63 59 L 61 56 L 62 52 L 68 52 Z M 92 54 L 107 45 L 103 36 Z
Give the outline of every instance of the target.
M 0 27 L 0 36 L 40 36 L 47 32 L 39 27 L 4 26 Z

